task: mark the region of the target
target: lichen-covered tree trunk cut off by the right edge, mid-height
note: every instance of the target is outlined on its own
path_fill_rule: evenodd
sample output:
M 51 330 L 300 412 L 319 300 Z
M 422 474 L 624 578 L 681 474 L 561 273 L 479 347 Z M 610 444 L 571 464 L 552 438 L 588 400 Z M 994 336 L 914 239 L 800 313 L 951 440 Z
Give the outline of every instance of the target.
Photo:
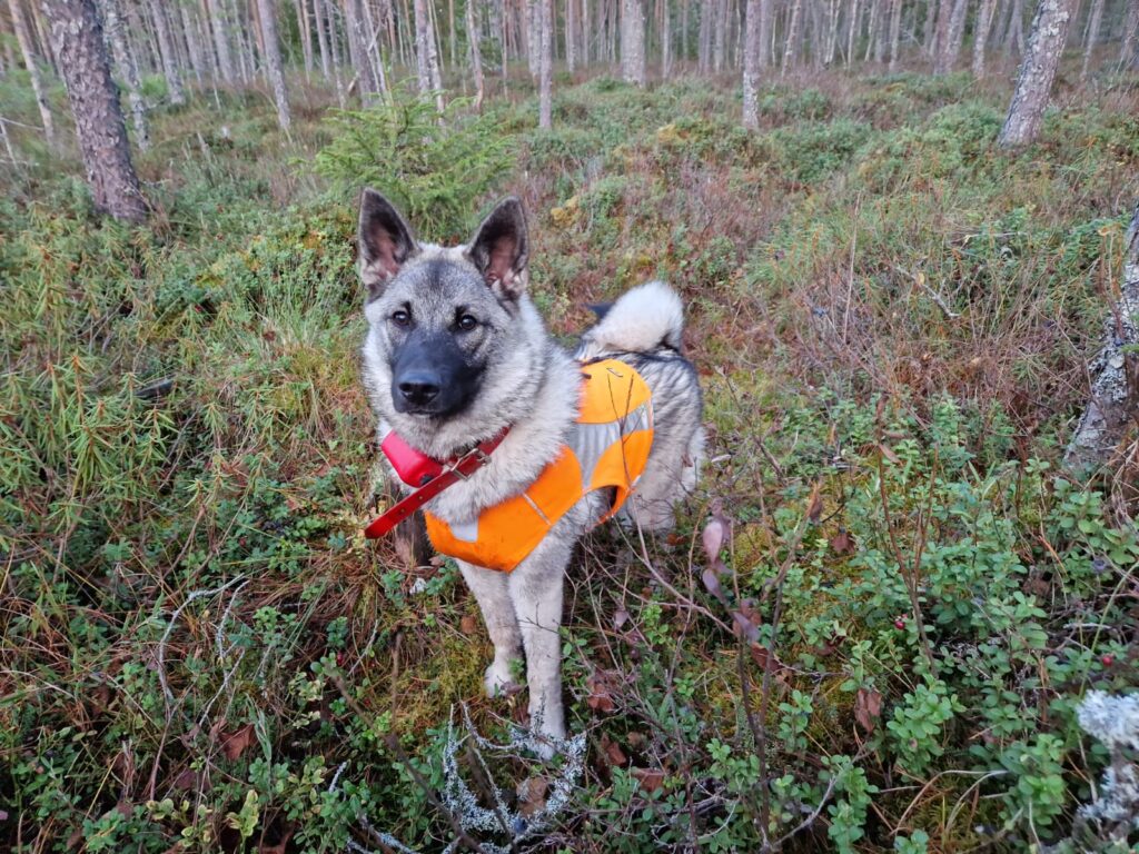
M 1091 399 L 1068 443 L 1064 463 L 1087 473 L 1106 463 L 1139 418 L 1139 205 L 1128 229 L 1123 280 L 1104 325 L 1104 346 L 1089 366 Z

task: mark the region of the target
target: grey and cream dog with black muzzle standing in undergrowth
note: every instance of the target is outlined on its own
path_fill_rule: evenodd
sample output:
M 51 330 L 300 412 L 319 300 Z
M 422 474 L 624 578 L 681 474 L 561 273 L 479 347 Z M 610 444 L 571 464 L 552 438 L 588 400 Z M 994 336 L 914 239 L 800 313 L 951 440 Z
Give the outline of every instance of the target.
M 696 486 L 703 403 L 696 370 L 681 352 L 681 301 L 662 282 L 633 288 L 598 311 L 599 321 L 571 356 L 552 340 L 527 293 L 530 243 L 517 198 L 499 203 L 469 243 L 442 247 L 416 240 L 387 199 L 364 190 L 358 241 L 367 289 L 363 383 L 379 436 L 394 433 L 417 458 L 441 461 L 431 463 L 436 474 L 446 468 L 443 461 L 472 460 L 472 454 L 484 463 L 452 477 L 452 485 L 426 502 L 428 528 L 434 519 L 461 540 L 472 524 L 483 525 L 491 508 L 513 507 L 511 501 L 519 512 L 536 514 L 532 524 L 540 529 L 527 533 L 536 544 L 526 545 L 509 572 L 473 563 L 483 552 L 457 563 L 494 646 L 486 692 L 493 697 L 515 688 L 511 662 L 524 652 L 532 732 L 548 757 L 566 737 L 558 632 L 575 543 L 613 512 L 614 495 L 625 487 L 631 494 L 620 510 L 624 524 L 661 533 L 674 523 L 674 503 Z M 571 506 L 559 510 L 559 518 L 547 518 L 531 501 L 531 486 L 541 483 L 552 461 L 566 459 L 575 430 L 585 430 L 579 419 L 589 366 L 600 375 L 598 381 L 609 383 L 609 397 L 636 393 L 620 385 L 614 394 L 613 383 L 644 380 L 637 388 L 647 386 L 652 400 L 636 413 L 637 430 L 626 424 L 633 416 L 621 412 L 614 421 L 624 430 L 620 442 L 613 433 L 606 441 L 624 454 L 621 443 L 629 438 L 632 447 L 631 436 L 647 434 L 650 443 L 639 445 L 647 459 L 634 487 L 621 473 L 622 485 L 580 495 L 555 484 L 546 491 L 550 500 Z M 489 453 L 478 450 L 491 445 Z M 388 474 L 400 477 L 395 467 Z M 508 515 L 506 534 L 524 527 Z

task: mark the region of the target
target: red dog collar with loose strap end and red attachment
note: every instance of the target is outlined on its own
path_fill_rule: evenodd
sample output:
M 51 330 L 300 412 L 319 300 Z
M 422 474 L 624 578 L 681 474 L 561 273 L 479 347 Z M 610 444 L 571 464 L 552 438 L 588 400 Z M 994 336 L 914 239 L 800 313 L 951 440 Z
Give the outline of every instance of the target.
M 363 535 L 369 540 L 384 536 L 443 490 L 459 481 L 466 481 L 491 461 L 494 449 L 502 443 L 509 432 L 510 428 L 505 427 L 497 436 L 480 442 L 465 454 L 452 457 L 446 462 L 428 457 L 423 451 L 412 447 L 394 430 L 388 433 L 380 443 L 380 450 L 391 461 L 400 479 L 409 486 L 418 486 L 419 488 L 390 508 L 379 518 L 374 519 L 363 529 Z

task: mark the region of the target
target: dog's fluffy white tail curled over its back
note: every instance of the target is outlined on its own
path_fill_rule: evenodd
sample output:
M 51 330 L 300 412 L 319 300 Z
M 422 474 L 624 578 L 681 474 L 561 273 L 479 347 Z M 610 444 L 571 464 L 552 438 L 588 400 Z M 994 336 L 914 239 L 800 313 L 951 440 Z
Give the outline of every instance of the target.
M 605 353 L 680 351 L 685 310 L 677 291 L 663 281 L 650 281 L 625 291 L 617 302 L 595 306 L 598 322 L 581 338 L 577 359 Z

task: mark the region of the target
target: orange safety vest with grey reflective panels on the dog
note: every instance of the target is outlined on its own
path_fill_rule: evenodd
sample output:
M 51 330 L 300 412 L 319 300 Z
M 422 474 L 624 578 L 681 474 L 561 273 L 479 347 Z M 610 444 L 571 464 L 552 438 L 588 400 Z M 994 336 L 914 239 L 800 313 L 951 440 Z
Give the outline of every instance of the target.
M 598 524 L 624 504 L 653 447 L 648 384 L 615 359 L 582 366 L 581 412 L 567 444 L 524 492 L 464 524 L 426 512 L 435 550 L 508 573 L 526 559 L 558 519 L 593 490 L 615 491 Z

